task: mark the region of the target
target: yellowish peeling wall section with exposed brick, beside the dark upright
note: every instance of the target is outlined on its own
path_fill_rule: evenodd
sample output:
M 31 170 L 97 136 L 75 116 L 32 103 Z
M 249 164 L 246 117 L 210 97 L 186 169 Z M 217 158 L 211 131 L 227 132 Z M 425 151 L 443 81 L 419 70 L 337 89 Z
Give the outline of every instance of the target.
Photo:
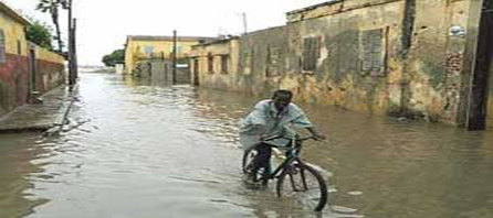
M 403 61 L 405 108 L 430 121 L 455 123 L 461 98 L 465 37 L 451 36 L 451 26 L 468 25 L 466 1 L 416 2 L 409 56 Z

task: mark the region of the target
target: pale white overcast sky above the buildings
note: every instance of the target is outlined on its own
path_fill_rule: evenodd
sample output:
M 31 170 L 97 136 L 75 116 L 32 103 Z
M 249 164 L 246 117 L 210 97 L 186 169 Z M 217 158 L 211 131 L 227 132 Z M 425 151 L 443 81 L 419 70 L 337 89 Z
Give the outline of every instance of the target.
M 50 17 L 34 10 L 39 0 L 1 0 L 38 20 Z M 74 0 L 80 64 L 102 65 L 103 55 L 123 48 L 126 35 L 217 36 L 283 25 L 285 12 L 326 0 Z M 66 18 L 62 17 L 63 30 Z M 66 31 L 64 31 L 65 33 Z M 64 35 L 66 37 L 66 34 Z

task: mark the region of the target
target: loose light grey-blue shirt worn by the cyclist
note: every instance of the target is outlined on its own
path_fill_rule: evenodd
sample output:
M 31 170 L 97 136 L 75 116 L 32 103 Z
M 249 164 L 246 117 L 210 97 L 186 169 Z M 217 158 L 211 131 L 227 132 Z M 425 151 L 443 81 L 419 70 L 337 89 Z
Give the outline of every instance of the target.
M 262 100 L 241 120 L 240 143 L 248 150 L 260 142 L 261 135 L 284 135 L 291 139 L 296 133 L 294 129 L 311 127 L 312 122 L 296 105 L 290 103 L 283 111 L 277 111 L 273 100 Z M 266 143 L 285 146 L 289 142 L 287 139 L 276 139 Z

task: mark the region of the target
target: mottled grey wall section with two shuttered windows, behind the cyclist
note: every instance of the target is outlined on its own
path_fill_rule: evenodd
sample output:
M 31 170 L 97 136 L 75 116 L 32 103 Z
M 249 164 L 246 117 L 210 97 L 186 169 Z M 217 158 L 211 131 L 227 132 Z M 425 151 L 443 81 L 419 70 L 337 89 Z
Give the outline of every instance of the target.
M 392 103 L 398 107 L 401 101 L 401 67 L 392 59 L 398 57 L 402 11 L 403 2 L 391 2 L 243 36 L 240 85 L 253 87 L 254 94 L 287 88 L 294 90 L 300 100 L 386 113 Z M 387 59 L 388 70 L 382 74 L 361 72 L 361 32 L 378 29 L 384 33 L 382 53 L 391 57 Z M 316 68 L 310 72 L 302 67 L 306 37 L 321 41 Z M 275 50 L 271 51 L 274 57 L 270 59 L 276 61 L 269 65 L 266 47 Z M 253 51 L 253 61 L 244 51 L 249 48 Z M 272 74 L 266 74 L 266 68 Z M 391 89 L 397 92 L 392 94 Z

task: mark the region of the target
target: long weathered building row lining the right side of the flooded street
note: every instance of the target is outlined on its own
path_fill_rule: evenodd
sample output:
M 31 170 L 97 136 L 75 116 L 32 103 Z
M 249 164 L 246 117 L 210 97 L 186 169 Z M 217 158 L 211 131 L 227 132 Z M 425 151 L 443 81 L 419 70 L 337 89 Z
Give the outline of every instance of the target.
M 492 46 L 478 40 L 492 24 L 489 2 L 332 0 L 295 10 L 284 26 L 241 36 L 237 70 L 221 79 L 202 74 L 200 85 L 286 88 L 298 100 L 354 111 L 493 126 Z M 478 47 L 490 47 L 484 58 Z

